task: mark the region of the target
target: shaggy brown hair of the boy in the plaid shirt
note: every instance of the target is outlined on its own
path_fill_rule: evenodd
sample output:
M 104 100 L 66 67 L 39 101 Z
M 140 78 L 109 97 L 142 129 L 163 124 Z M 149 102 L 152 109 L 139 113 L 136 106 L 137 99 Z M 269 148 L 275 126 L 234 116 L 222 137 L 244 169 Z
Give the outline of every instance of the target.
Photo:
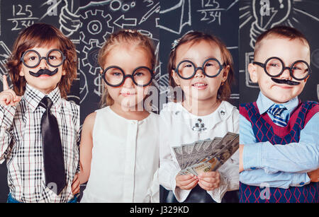
M 52 25 L 35 23 L 21 31 L 13 44 L 11 56 L 6 63 L 13 83 L 13 90 L 18 95 L 23 95 L 26 90 L 26 78 L 20 76 L 21 56 L 27 49 L 37 46 L 50 46 L 56 43 L 57 48 L 65 54 L 63 69 L 66 71 L 57 86 L 60 88 L 62 98 L 67 97 L 72 81 L 77 77 L 77 51 L 74 44 L 61 31 Z

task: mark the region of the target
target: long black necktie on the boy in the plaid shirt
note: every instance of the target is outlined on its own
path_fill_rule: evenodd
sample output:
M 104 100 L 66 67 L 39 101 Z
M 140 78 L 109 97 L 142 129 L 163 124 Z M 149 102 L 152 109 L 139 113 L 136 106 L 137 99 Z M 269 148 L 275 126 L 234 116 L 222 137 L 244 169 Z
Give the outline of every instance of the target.
M 57 119 L 50 111 L 52 104 L 48 97 L 43 98 L 39 104 L 46 110 L 41 118 L 43 161 L 45 185 L 59 195 L 66 185 L 65 160 Z

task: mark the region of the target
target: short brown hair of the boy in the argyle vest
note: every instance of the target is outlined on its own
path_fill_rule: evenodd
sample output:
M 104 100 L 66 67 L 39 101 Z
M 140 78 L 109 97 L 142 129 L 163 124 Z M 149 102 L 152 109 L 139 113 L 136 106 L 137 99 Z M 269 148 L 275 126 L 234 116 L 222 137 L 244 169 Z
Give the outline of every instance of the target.
M 305 45 L 307 45 L 310 49 L 309 42 L 305 35 L 298 31 L 296 28 L 292 28 L 285 25 L 277 25 L 269 30 L 265 31 L 261 35 L 257 37 L 256 43 L 254 45 L 254 57 L 257 56 L 259 48 L 262 46 L 262 40 L 266 39 L 267 37 L 286 37 L 289 40 L 301 40 Z

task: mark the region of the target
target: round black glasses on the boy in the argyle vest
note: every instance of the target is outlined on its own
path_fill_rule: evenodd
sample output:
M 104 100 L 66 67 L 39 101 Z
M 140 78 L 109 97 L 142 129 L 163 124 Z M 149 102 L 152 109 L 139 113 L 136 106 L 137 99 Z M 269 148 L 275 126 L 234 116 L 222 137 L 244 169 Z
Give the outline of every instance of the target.
M 268 61 L 270 61 L 270 59 L 278 59 L 278 60 L 281 62 L 281 65 L 282 65 L 281 71 L 280 71 L 279 74 L 277 74 L 276 76 L 272 76 L 271 74 L 269 74 L 269 73 L 267 72 L 266 66 L 267 66 Z M 293 65 L 296 64 L 297 62 L 303 62 L 303 63 L 306 64 L 306 66 L 308 67 L 308 74 L 307 74 L 306 76 L 304 76 L 303 78 L 296 78 L 295 76 L 293 76 L 293 69 L 292 69 L 292 67 L 293 67 Z M 284 61 L 282 61 L 279 57 L 269 57 L 269 58 L 264 62 L 264 64 L 261 63 L 261 62 L 259 62 L 259 61 L 253 61 L 252 64 L 256 64 L 257 66 L 261 66 L 261 67 L 264 69 L 264 72 L 267 74 L 267 76 L 272 77 L 272 78 L 281 76 L 281 74 L 283 74 L 286 69 L 289 70 L 290 76 L 291 76 L 292 78 L 296 79 L 297 81 L 302 81 L 302 80 L 306 79 L 308 76 L 310 76 L 310 73 L 311 73 L 311 69 L 310 69 L 309 64 L 308 64 L 306 61 L 302 60 L 302 59 L 294 61 L 294 62 L 291 64 L 290 67 L 285 66 Z

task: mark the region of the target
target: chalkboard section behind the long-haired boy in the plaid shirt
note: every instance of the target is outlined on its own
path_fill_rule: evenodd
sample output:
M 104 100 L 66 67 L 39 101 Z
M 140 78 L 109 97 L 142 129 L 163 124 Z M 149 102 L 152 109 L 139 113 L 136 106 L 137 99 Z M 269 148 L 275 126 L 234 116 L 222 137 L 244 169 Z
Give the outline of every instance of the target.
M 11 54 L 13 42 L 27 26 L 33 23 L 48 23 L 60 28 L 62 33 L 78 47 L 79 44 L 79 18 L 74 16 L 74 9 L 79 7 L 77 0 L 1 0 L 0 1 L 0 90 L 2 75 L 7 74 L 4 64 Z M 9 78 L 7 78 L 9 81 Z M 11 85 L 11 81 L 9 81 Z M 11 85 L 12 87 L 12 85 Z M 72 83 L 71 93 L 67 100 L 72 100 L 79 105 L 79 75 Z M 9 194 L 6 177 L 6 162 L 0 165 L 0 203 L 6 202 Z

